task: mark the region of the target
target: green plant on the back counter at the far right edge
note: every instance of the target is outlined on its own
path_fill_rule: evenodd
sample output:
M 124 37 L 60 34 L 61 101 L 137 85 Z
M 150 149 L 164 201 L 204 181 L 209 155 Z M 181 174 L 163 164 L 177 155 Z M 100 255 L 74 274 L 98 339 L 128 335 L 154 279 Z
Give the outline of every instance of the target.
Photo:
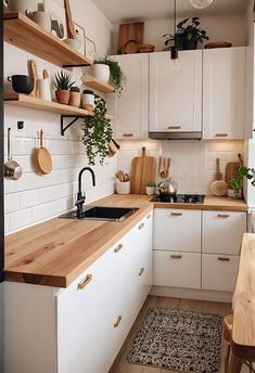
M 252 185 L 255 186 L 255 169 L 244 166 L 239 167 L 235 177 L 231 180 L 232 189 L 228 190 L 229 197 L 242 198 L 243 178 L 250 180 Z

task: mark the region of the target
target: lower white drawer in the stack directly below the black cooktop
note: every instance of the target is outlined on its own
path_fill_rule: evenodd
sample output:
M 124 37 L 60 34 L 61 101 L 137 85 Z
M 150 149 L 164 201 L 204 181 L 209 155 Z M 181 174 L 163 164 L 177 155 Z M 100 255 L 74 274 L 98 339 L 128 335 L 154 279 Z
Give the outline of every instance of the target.
M 153 285 L 201 288 L 201 254 L 153 252 Z

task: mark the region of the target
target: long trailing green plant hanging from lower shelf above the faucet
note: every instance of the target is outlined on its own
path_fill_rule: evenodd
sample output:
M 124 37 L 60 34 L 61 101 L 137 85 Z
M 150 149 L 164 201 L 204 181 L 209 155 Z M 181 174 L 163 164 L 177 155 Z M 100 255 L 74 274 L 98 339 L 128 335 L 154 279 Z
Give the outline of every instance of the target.
M 100 164 L 103 165 L 109 153 L 109 143 L 113 137 L 111 120 L 105 118 L 107 113 L 105 101 L 94 94 L 94 115 L 86 117 L 81 127 L 84 131 L 81 139 L 86 146 L 90 166 L 94 166 L 98 156 L 100 157 Z

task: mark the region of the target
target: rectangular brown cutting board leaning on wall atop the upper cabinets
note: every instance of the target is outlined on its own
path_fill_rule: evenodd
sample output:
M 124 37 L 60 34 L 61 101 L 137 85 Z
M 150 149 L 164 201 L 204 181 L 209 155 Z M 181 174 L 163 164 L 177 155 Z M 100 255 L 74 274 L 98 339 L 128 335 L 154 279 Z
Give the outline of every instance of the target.
M 143 44 L 144 22 L 135 22 L 122 24 L 118 27 L 118 51 L 123 52 L 123 47 L 129 40 L 137 40 L 139 44 Z

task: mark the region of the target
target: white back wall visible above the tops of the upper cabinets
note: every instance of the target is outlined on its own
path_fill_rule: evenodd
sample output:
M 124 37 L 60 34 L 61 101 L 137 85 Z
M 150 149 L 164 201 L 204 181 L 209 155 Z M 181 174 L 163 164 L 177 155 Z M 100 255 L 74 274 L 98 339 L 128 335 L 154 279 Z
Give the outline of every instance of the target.
M 179 22 L 180 20 L 177 20 Z M 214 41 L 229 41 L 233 47 L 246 44 L 246 18 L 245 15 L 231 16 L 207 16 L 201 17 L 201 27 L 206 30 L 209 41 L 205 40 L 204 44 Z M 162 51 L 165 48 L 163 35 L 173 33 L 173 20 L 155 20 L 144 22 L 144 43 L 155 46 L 155 51 Z M 113 54 L 117 51 L 118 26 L 114 27 L 114 49 Z M 201 46 L 199 46 L 201 48 Z

